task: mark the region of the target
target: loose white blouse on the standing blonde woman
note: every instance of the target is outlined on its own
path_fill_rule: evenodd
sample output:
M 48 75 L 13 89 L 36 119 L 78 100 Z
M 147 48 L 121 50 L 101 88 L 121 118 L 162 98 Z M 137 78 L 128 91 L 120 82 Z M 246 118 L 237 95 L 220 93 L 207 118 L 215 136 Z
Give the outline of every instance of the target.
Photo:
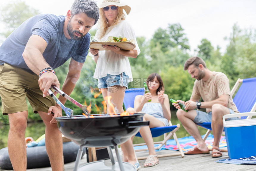
M 127 21 L 123 20 L 115 27 L 109 27 L 107 29 L 106 34 L 101 38 L 101 41 L 107 41 L 109 36 L 115 37 L 126 37 L 129 41 L 130 39 L 135 40 L 135 48 L 137 50 L 138 55 L 140 54 L 140 48 L 138 47 L 138 43 L 136 40 L 136 36 L 132 27 L 128 24 Z M 110 30 L 111 29 L 111 30 Z M 97 30 L 95 34 L 95 38 L 99 39 L 99 30 Z M 93 78 L 102 78 L 110 75 L 119 75 L 121 73 L 125 73 L 129 77 L 129 81 L 132 81 L 132 71 L 130 62 L 127 56 L 119 55 L 111 50 L 100 50 L 99 57 L 97 60 L 95 72 Z

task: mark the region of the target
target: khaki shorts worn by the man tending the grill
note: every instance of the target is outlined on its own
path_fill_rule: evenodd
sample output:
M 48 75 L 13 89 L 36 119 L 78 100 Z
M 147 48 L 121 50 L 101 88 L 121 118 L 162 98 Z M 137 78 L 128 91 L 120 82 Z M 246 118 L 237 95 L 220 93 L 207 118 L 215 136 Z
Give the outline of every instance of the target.
M 33 112 L 48 112 L 56 102 L 50 96 L 43 97 L 38 85 L 39 76 L 25 69 L 9 64 L 0 65 L 0 97 L 3 114 L 27 111 L 26 98 Z

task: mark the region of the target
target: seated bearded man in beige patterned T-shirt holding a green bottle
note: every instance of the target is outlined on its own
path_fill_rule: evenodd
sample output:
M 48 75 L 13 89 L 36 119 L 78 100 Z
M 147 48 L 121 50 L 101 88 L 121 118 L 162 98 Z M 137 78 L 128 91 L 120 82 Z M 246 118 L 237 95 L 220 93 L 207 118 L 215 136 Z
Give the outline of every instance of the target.
M 177 118 L 197 142 L 197 146 L 185 154 L 210 153 L 196 124 L 211 122 L 214 136 L 212 157 L 221 157 L 219 141 L 224 129 L 222 116 L 229 113 L 239 113 L 230 96 L 229 80 L 224 73 L 208 70 L 205 61 L 199 57 L 189 58 L 184 64 L 184 70 L 188 70 L 191 77 L 196 78 L 190 100 L 186 102 L 177 100 L 177 102 L 185 104 L 185 109 L 188 112 L 180 109 L 178 104 L 172 104 L 178 109 Z M 203 102 L 199 101 L 201 97 Z M 206 112 L 200 111 L 200 108 L 205 108 Z M 228 118 L 227 120 L 237 119 L 240 118 Z

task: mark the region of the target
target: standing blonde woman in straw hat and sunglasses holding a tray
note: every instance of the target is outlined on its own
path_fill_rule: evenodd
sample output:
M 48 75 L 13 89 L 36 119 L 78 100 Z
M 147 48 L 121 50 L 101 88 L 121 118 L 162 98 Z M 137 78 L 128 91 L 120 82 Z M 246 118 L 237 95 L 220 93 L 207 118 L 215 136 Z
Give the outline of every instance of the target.
M 130 13 L 131 8 L 122 4 L 119 0 L 103 0 L 100 8 L 99 30 L 95 34 L 96 40 L 106 41 L 109 36 L 122 36 L 127 40 L 135 40 L 133 50 L 121 50 L 118 46 L 102 45 L 106 50 L 90 49 L 94 55 L 96 68 L 93 78 L 98 79 L 98 88 L 101 89 L 102 95 L 106 101 L 107 96 L 111 96 L 111 103 L 115 107 L 116 113 L 122 113 L 123 99 L 125 89 L 128 83 L 132 81 L 132 71 L 128 57 L 136 58 L 140 49 L 138 47 L 134 30 L 125 21 L 123 10 Z M 107 101 L 106 101 L 107 102 Z M 110 113 L 111 105 L 108 104 L 107 111 Z M 124 161 L 135 164 L 138 169 L 140 166 L 136 161 L 135 152 L 133 151 L 132 141 L 129 140 L 121 145 L 124 152 Z M 131 149 L 126 151 L 125 149 Z

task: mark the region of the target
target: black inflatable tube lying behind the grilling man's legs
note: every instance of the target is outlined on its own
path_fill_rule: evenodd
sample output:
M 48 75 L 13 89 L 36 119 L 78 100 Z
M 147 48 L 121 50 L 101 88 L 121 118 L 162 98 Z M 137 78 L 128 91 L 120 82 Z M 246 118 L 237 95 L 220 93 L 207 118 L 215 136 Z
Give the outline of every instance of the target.
M 69 163 L 75 161 L 77 157 L 77 152 L 79 150 L 79 145 L 73 141 L 63 143 L 63 155 L 64 163 Z M 39 167 L 49 167 L 50 161 L 46 153 L 45 146 L 35 146 L 26 148 L 27 150 L 27 169 L 39 168 Z M 83 150 L 82 156 L 85 154 L 85 148 Z M 12 170 L 13 166 L 11 164 L 7 147 L 0 150 L 0 167 L 1 169 Z

